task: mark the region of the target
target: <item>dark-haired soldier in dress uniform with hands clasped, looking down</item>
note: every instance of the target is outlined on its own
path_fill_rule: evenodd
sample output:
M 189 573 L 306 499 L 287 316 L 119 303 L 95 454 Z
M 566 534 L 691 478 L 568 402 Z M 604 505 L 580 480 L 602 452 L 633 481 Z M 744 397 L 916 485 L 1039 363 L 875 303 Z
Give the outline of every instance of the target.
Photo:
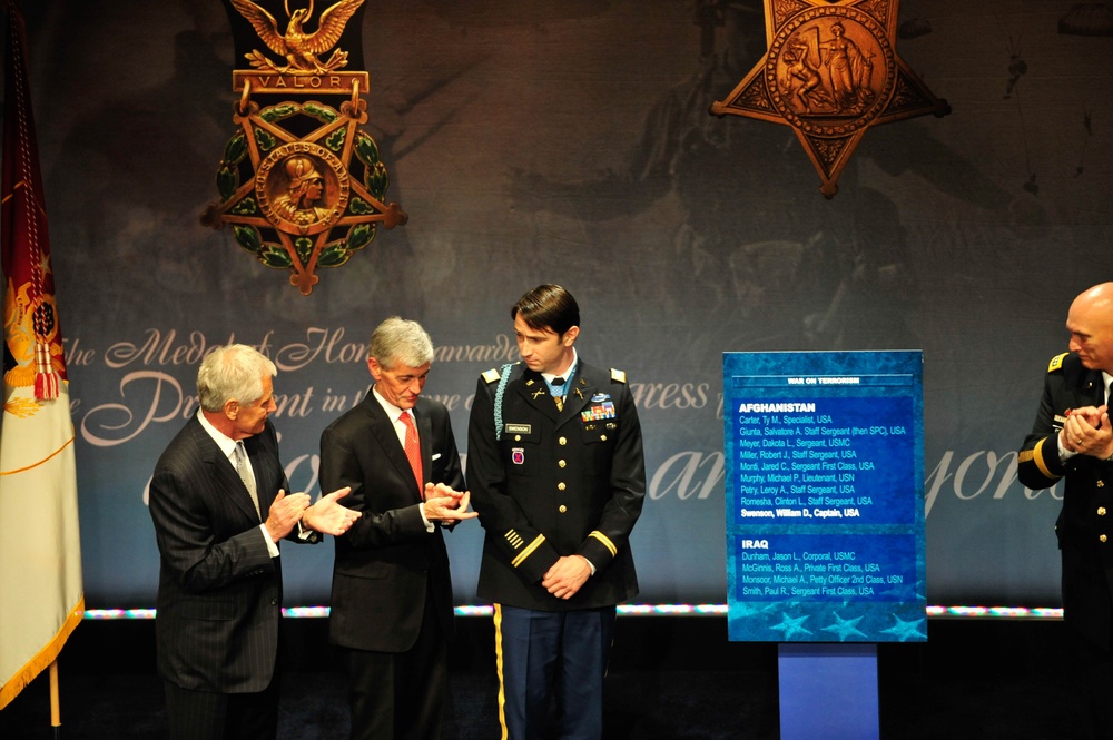
M 579 358 L 568 290 L 539 286 L 511 317 L 522 362 L 482 375 L 467 431 L 502 737 L 555 728 L 598 739 L 615 606 L 638 593 L 629 537 L 646 496 L 641 427 L 626 375 Z

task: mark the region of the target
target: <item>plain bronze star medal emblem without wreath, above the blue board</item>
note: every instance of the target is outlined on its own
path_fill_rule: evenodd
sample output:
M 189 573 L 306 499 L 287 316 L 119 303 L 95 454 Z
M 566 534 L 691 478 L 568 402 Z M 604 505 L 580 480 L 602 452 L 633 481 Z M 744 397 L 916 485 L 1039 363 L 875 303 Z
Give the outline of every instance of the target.
M 831 198 L 836 180 L 870 126 L 951 106 L 897 56 L 898 0 L 765 0 L 768 51 L 715 116 L 786 124 Z

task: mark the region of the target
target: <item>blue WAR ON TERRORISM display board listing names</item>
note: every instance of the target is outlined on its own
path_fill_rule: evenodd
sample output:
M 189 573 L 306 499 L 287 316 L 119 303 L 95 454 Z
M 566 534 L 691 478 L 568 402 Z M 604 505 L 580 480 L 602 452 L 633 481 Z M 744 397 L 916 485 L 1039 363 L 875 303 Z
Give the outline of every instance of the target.
M 729 637 L 927 639 L 920 352 L 725 353 Z

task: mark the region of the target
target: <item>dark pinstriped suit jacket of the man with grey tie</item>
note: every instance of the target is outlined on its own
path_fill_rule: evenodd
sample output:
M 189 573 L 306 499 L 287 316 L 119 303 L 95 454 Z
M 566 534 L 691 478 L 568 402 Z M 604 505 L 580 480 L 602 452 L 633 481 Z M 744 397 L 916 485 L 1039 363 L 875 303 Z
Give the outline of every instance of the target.
M 274 426 L 244 441 L 264 517 L 289 484 Z M 160 568 L 155 623 L 159 674 L 184 689 L 262 691 L 275 670 L 282 566 L 238 473 L 195 416 L 150 482 Z

